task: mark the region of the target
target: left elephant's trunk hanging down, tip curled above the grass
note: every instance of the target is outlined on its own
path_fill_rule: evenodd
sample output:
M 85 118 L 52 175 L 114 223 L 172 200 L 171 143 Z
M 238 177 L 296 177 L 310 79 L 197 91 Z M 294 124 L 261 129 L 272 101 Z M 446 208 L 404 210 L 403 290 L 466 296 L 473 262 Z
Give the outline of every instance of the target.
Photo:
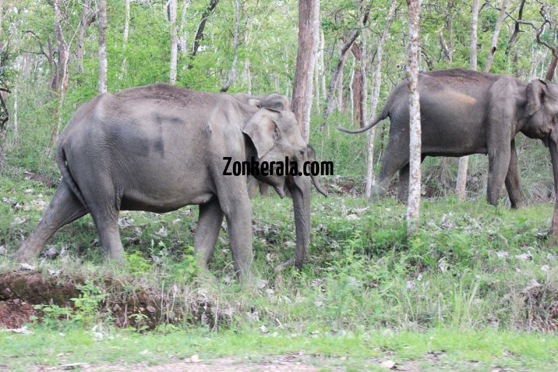
M 295 176 L 294 181 L 290 181 L 288 187 L 294 209 L 296 248 L 293 257 L 278 265 L 275 268 L 276 272 L 290 265 L 300 269 L 306 261 L 310 244 L 310 177 Z

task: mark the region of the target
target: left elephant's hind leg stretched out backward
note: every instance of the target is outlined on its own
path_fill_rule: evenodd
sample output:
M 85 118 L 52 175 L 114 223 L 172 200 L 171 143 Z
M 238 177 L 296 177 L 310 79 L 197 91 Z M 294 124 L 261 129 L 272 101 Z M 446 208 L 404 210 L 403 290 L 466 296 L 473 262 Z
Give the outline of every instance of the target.
M 37 257 L 56 230 L 88 212 L 66 182 L 62 180 L 47 211 L 45 211 L 45 215 L 17 251 L 17 258 L 24 261 Z

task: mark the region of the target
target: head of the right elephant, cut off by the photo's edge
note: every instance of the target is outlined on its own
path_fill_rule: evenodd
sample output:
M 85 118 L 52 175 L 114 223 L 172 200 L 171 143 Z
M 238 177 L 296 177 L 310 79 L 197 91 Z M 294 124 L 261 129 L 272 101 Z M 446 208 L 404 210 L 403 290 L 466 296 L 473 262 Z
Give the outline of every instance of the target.
M 525 92 L 527 103 L 521 132 L 527 137 L 543 140 L 549 147 L 558 195 L 558 85 L 535 79 L 527 84 Z

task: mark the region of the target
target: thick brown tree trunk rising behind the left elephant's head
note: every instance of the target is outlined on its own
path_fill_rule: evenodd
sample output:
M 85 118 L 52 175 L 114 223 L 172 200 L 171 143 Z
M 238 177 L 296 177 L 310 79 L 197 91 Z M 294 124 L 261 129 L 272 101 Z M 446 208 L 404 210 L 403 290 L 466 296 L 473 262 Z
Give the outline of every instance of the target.
M 318 5 L 318 8 L 316 7 Z M 296 52 L 296 72 L 292 89 L 292 110 L 304 134 L 308 94 L 312 94 L 312 72 L 315 59 L 315 20 L 319 19 L 317 0 L 299 1 L 299 48 Z M 310 75 L 310 79 L 308 76 Z M 310 85 L 310 86 L 309 86 Z M 310 100 L 311 101 L 311 100 Z M 308 118 L 309 120 L 310 118 Z

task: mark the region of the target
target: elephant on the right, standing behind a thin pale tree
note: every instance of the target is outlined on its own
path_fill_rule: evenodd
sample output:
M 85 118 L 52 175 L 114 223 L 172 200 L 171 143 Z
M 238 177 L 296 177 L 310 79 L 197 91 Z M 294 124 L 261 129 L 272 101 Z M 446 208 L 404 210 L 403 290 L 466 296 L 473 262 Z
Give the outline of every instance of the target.
M 504 184 L 511 206 L 525 197 L 515 151 L 519 132 L 543 140 L 550 147 L 555 188 L 558 181 L 558 86 L 542 80 L 520 82 L 509 75 L 478 73 L 462 68 L 418 75 L 421 95 L 422 158 L 488 154 L 487 198 L 497 205 Z M 406 198 L 409 186 L 409 102 L 407 81 L 391 92 L 379 116 L 361 133 L 389 117 L 391 127 L 382 170 L 372 191 L 386 192 L 399 171 L 399 192 Z

